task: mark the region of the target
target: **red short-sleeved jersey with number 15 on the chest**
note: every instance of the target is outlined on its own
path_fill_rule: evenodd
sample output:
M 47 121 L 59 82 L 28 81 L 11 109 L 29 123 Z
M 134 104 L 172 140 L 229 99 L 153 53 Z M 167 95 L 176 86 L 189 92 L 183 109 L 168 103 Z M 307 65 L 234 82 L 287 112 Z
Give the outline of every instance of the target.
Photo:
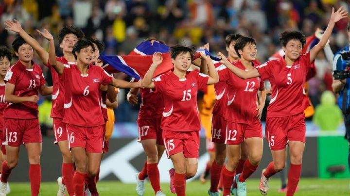
M 205 90 L 209 77 L 188 71 L 180 80 L 172 71 L 158 76 L 156 92 L 163 95 L 164 112 L 160 128 L 168 131 L 199 131 L 198 90 Z

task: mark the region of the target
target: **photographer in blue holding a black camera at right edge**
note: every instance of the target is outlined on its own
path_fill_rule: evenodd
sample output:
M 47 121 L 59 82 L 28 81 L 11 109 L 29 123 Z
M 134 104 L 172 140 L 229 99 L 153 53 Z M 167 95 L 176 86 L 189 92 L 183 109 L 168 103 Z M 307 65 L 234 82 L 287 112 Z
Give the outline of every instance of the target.
M 348 38 L 350 41 L 350 23 L 347 26 Z M 345 137 L 349 141 L 348 164 L 350 167 L 350 49 L 349 45 L 340 49 L 334 55 L 333 61 L 333 92 L 339 94 L 338 105 L 343 112 L 345 124 Z

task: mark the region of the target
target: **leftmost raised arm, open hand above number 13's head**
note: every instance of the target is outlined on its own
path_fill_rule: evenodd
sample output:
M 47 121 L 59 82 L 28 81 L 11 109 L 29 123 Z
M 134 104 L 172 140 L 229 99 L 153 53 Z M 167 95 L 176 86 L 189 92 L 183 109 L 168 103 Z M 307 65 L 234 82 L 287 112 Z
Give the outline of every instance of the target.
M 37 42 L 33 37 L 31 37 L 27 32 L 25 32 L 18 20 L 15 19 L 15 22 L 11 20 L 5 20 L 4 22 L 7 31 L 12 31 L 18 33 L 25 42 L 27 42 L 35 51 L 38 53 L 40 59 L 43 61 L 43 64 L 46 65 L 49 61 L 49 53 L 40 46 L 39 42 Z

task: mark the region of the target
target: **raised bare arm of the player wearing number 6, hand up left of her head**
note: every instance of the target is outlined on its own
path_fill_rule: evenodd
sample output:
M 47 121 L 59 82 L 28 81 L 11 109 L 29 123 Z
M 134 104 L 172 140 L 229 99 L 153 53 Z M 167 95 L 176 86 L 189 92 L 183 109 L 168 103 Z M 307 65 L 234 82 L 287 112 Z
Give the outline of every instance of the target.
M 44 29 L 44 33 L 41 33 L 40 31 L 36 30 L 41 36 L 45 37 L 47 40 L 49 40 L 49 62 L 51 66 L 54 68 L 54 70 L 59 74 L 63 74 L 64 65 L 56 60 L 56 52 L 54 48 L 54 42 L 53 42 L 53 36 L 51 33 L 49 33 L 46 29 Z

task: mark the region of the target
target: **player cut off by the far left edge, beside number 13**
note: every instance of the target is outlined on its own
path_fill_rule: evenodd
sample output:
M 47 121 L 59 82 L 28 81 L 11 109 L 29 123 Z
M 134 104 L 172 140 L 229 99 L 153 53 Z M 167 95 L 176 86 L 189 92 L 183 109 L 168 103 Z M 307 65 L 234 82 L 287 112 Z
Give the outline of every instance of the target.
M 6 160 L 6 148 L 4 145 L 2 145 L 3 138 L 2 138 L 2 132 L 3 132 L 3 125 L 5 122 L 5 118 L 3 116 L 3 111 L 5 110 L 5 107 L 7 106 L 7 102 L 5 102 L 5 76 L 7 73 L 7 69 L 10 67 L 12 60 L 12 54 L 11 51 L 5 47 L 0 46 L 0 170 L 2 167 L 2 163 Z M 1 174 L 0 174 L 1 176 Z M 7 189 L 6 194 L 10 193 L 10 187 L 7 182 Z

